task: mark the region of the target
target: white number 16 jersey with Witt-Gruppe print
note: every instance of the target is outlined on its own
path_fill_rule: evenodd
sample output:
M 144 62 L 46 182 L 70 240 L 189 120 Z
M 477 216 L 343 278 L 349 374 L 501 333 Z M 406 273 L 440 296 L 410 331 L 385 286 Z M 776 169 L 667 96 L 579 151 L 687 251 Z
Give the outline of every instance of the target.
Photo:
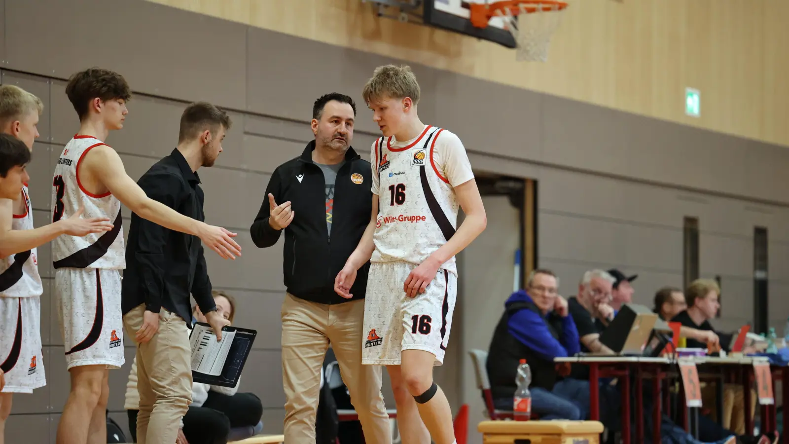
M 378 195 L 378 220 L 371 262 L 421 264 L 447 243 L 458 223 L 454 187 L 473 179 L 466 149 L 458 136 L 425 126 L 410 141 L 381 137 L 372 145 L 372 192 Z M 454 257 L 441 265 L 457 274 Z

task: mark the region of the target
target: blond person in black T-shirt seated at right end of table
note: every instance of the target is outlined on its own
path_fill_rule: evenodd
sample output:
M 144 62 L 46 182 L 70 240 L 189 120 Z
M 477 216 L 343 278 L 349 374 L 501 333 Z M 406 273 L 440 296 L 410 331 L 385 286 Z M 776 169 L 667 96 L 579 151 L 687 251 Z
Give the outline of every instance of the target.
M 673 322 L 682 324 L 680 336 L 686 338 L 686 347 L 689 348 L 708 348 L 709 345 L 720 345 L 725 351 L 731 350 L 731 338 L 733 335 L 728 333 L 716 332 L 712 328 L 709 320 L 715 318 L 720 309 L 720 287 L 714 280 L 697 279 L 690 284 L 685 292 L 687 310 L 684 310 L 671 319 Z M 746 350 L 748 352 L 748 350 Z M 752 352 L 752 351 L 751 351 Z M 702 402 L 706 405 L 714 405 L 716 397 L 714 385 L 705 386 L 702 389 Z M 745 396 L 740 384 L 724 385 L 724 412 L 720 421 L 723 427 L 735 431 L 742 435 L 745 430 Z M 751 397 L 751 415 L 756 409 L 756 394 Z M 715 419 L 717 412 L 713 410 L 712 418 Z

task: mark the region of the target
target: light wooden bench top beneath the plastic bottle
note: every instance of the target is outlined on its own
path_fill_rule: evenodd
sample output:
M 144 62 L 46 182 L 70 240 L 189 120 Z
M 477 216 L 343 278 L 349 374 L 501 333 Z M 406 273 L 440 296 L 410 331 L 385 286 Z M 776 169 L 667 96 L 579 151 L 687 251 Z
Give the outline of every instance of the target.
M 482 421 L 484 444 L 599 444 L 598 421 Z

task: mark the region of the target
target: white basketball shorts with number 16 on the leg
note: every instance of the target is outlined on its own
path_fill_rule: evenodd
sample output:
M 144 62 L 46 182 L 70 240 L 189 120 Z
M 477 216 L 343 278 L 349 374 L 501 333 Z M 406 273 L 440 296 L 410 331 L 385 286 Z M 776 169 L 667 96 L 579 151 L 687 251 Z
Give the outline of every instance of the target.
M 365 295 L 365 344 L 361 363 L 400 365 L 402 350 L 424 350 L 443 363 L 452 325 L 458 277 L 439 269 L 424 293 L 409 298 L 403 292 L 410 262 L 373 262 Z

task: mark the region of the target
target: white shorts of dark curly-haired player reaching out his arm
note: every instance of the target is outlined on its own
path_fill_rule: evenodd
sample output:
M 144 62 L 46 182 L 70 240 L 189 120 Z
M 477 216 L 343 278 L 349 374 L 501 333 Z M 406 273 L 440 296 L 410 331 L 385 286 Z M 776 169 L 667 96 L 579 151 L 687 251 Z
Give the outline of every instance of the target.
M 116 269 L 55 270 L 66 369 L 120 368 L 123 354 L 121 273 Z

